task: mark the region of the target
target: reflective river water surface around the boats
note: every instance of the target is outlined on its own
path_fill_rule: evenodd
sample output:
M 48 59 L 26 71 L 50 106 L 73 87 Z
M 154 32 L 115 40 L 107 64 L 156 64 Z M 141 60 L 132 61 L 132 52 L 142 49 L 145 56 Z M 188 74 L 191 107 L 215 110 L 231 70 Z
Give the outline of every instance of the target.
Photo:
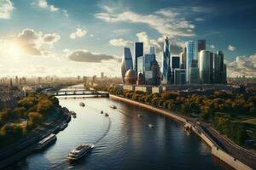
M 27 156 L 18 169 L 230 169 L 211 155 L 198 136 L 186 133 L 181 122 L 107 98 L 60 98 L 60 104 L 75 111 L 77 118 L 57 134 L 55 144 Z M 96 141 L 96 147 L 79 161 L 67 161 L 70 150 Z

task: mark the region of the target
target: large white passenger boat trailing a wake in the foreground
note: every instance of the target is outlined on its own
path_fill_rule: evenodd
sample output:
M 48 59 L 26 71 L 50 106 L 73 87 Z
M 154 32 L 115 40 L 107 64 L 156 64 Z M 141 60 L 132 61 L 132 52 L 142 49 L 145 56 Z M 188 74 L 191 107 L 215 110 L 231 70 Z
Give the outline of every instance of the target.
M 79 160 L 81 157 L 85 156 L 91 149 L 93 149 L 95 144 L 81 144 L 74 150 L 71 150 L 67 156 L 69 161 Z

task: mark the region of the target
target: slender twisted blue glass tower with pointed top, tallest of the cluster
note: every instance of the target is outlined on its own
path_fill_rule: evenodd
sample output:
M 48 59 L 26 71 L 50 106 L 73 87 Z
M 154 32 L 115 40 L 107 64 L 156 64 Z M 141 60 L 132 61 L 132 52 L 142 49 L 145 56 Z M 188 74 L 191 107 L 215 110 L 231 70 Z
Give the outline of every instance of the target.
M 165 39 L 163 60 L 162 60 L 162 83 L 167 84 L 170 81 L 170 54 L 171 54 L 171 43 L 169 42 L 168 37 Z

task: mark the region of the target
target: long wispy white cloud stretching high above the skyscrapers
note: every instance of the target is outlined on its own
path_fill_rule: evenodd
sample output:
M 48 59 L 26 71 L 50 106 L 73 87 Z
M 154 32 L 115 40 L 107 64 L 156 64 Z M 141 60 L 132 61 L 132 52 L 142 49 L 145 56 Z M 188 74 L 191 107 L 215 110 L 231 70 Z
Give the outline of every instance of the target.
M 179 13 L 179 11 L 174 8 L 162 8 L 154 14 L 137 14 L 129 10 L 118 14 L 113 10 L 106 9 L 106 7 L 102 9 L 105 12 L 95 14 L 95 16 L 97 19 L 104 20 L 108 23 L 141 23 L 150 26 L 160 34 L 168 35 L 169 37 L 195 36 L 193 32 L 195 25 L 189 20 L 186 20 L 184 14 Z

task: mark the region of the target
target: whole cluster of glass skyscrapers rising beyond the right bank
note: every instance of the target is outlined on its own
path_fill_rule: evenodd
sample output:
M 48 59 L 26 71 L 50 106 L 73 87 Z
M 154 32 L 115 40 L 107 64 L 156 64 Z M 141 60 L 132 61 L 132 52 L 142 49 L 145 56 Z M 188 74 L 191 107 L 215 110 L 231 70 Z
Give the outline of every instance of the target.
M 157 86 L 160 83 L 167 85 L 226 82 L 224 54 L 222 51 L 207 51 L 206 40 L 186 42 L 182 53 L 177 56 L 172 55 L 171 42 L 166 37 L 161 69 L 156 60 L 154 46 L 150 47 L 148 54 L 144 54 L 143 42 L 135 42 L 134 63 L 132 60 L 131 49 L 124 48 L 121 71 L 123 82 L 126 84 L 137 82 L 137 85 Z

